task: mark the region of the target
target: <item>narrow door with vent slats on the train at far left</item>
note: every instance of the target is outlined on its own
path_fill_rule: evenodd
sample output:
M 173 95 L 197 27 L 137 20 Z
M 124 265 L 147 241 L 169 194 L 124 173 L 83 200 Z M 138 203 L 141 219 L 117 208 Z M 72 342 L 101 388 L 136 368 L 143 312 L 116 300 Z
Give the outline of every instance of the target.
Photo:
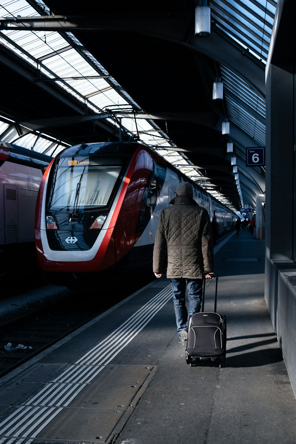
M 5 244 L 18 242 L 17 186 L 4 183 Z

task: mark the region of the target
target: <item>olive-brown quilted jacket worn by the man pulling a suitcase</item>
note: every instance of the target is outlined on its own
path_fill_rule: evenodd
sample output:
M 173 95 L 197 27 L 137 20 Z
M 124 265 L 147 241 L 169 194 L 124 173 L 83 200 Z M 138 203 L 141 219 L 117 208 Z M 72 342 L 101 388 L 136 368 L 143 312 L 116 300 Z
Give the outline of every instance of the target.
M 213 272 L 213 234 L 209 213 L 190 196 L 178 196 L 162 210 L 155 234 L 153 271 L 166 277 L 199 279 Z

